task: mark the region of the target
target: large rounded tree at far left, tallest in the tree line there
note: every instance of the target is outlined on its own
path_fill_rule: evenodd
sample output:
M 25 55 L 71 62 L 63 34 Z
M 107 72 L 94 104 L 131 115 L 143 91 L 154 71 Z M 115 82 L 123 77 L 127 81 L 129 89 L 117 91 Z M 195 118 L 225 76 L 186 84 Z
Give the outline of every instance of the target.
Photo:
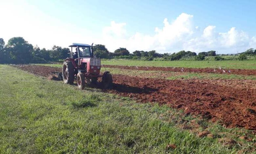
M 22 37 L 11 38 L 6 50 L 10 53 L 12 63 L 30 63 L 32 61 L 33 46 L 25 41 Z

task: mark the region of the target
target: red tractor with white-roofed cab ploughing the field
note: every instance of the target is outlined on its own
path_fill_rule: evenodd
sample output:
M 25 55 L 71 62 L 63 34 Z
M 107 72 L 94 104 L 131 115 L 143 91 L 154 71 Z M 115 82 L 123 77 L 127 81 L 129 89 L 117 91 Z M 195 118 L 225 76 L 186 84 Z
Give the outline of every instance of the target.
M 76 78 L 79 89 L 86 85 L 97 84 L 97 79 L 102 77 L 102 87 L 108 88 L 112 85 L 112 76 L 109 71 L 100 74 L 100 59 L 93 55 L 93 44 L 73 43 L 70 45 L 70 58 L 66 58 L 62 67 L 62 77 L 66 84 L 74 84 Z M 73 48 L 75 52 L 73 53 Z

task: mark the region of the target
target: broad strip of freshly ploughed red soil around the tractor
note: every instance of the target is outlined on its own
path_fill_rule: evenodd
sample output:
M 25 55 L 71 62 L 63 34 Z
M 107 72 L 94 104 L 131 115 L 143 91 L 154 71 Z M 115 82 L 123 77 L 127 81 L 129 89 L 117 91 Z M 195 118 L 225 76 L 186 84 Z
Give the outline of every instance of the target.
M 48 77 L 59 67 L 20 66 L 19 68 Z M 252 70 L 255 71 L 255 70 Z M 185 113 L 202 115 L 212 121 L 221 121 L 227 127 L 245 127 L 256 130 L 256 89 L 224 86 L 207 80 L 164 80 L 113 75 L 114 86 L 105 90 L 129 96 L 138 102 L 158 102 Z

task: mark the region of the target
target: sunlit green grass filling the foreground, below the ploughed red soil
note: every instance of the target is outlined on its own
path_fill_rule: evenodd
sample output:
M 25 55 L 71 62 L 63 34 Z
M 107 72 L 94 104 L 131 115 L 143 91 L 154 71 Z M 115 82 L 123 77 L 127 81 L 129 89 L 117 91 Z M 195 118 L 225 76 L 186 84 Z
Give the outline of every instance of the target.
M 182 111 L 98 89 L 78 90 L 11 66 L 0 65 L 0 71 L 0 153 L 165 153 L 167 144 L 177 145 L 171 153 L 253 150 L 249 143 L 218 142 L 218 137 L 239 141 L 236 136 L 248 133 L 244 129 L 201 122 L 199 129 L 212 125 L 206 129 L 217 134 L 199 138 L 178 127 L 194 119 Z

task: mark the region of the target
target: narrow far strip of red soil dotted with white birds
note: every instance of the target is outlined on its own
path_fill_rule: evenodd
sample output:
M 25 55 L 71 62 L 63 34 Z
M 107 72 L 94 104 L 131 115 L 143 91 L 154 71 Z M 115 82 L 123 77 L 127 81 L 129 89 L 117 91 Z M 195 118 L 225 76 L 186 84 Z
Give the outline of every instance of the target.
M 135 69 L 135 70 L 154 70 L 154 71 L 175 71 L 175 72 L 197 72 L 197 73 L 227 73 L 241 75 L 256 75 L 255 69 L 219 69 L 219 68 L 181 68 L 181 67 L 144 67 L 144 66 L 118 66 L 118 65 L 103 65 L 108 68 Z M 229 72 L 230 70 L 230 72 Z

